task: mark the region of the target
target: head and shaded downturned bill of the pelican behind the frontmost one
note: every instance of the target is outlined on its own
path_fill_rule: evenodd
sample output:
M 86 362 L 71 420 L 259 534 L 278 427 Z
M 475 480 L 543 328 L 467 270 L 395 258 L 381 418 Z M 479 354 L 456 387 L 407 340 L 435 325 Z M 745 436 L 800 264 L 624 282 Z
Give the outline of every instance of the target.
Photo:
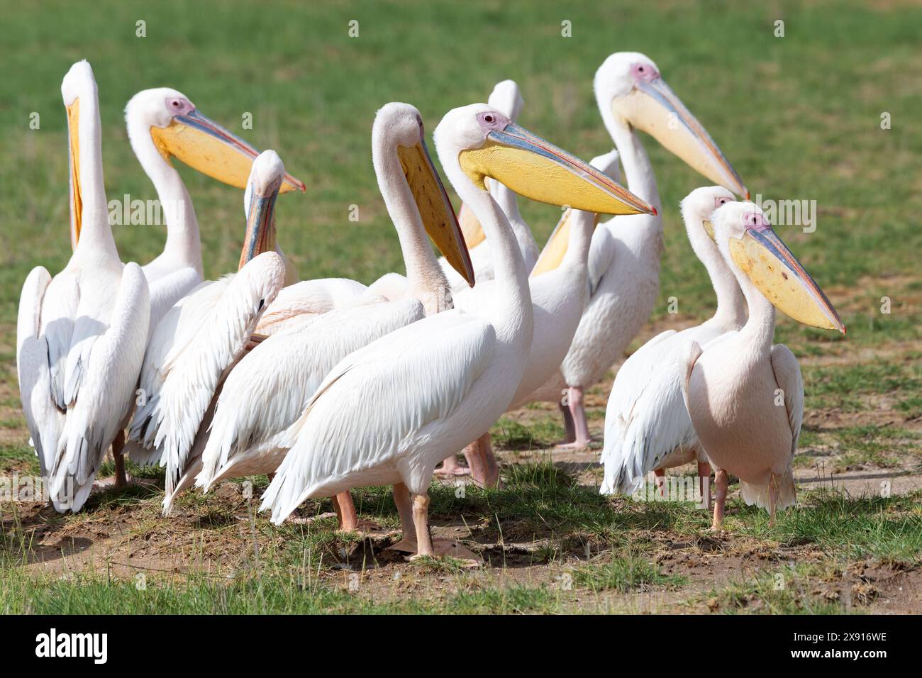
M 386 143 L 384 142 L 386 139 Z M 445 260 L 467 280 L 474 284 L 474 265 L 467 252 L 464 235 L 455 216 L 455 208 L 445 192 L 439 172 L 432 164 L 422 116 L 415 106 L 393 101 L 382 107 L 374 117 L 372 125 L 372 146 L 375 149 L 396 145 L 397 158 L 407 179 L 410 193 L 420 210 L 422 225 Z M 384 158 L 373 158 L 379 180 L 384 181 L 386 168 L 381 166 Z M 381 184 L 381 193 L 387 189 Z

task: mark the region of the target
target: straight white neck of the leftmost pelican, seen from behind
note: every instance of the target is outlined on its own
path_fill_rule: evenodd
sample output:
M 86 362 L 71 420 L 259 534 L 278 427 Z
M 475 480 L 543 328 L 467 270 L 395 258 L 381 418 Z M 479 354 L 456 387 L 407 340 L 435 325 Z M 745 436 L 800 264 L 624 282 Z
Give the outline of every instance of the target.
M 110 262 L 120 261 L 106 204 L 105 180 L 102 176 L 100 106 L 94 82 L 81 82 L 78 101 L 77 172 L 80 176 L 83 216 L 74 255 Z

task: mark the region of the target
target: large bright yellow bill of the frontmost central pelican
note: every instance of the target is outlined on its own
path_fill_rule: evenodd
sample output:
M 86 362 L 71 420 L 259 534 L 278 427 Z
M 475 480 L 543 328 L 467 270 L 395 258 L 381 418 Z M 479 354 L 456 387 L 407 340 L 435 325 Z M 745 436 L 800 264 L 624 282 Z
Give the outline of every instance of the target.
M 520 196 L 599 214 L 656 214 L 603 172 L 524 127 L 493 131 L 479 149 L 462 150 L 461 167 L 481 188 L 490 177 Z

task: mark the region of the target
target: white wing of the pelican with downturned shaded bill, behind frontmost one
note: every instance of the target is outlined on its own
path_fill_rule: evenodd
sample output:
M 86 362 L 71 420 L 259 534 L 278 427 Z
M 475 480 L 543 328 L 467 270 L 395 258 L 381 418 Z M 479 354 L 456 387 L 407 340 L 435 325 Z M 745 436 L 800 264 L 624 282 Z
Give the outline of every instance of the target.
M 424 315 L 415 299 L 362 303 L 263 341 L 224 382 L 196 484 L 207 490 L 221 478 L 276 470 L 278 436 L 298 420 L 330 370 Z

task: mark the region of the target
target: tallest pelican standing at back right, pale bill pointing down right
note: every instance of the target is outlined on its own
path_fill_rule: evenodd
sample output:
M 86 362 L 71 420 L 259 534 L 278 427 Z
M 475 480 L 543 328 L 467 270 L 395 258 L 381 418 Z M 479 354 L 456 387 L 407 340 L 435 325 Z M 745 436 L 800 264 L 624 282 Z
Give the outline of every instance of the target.
M 595 77 L 602 120 L 621 155 L 628 188 L 657 210 L 653 168 L 637 130 L 647 132 L 692 169 L 739 196 L 749 192 L 704 127 L 668 87 L 644 54 L 611 54 Z M 609 220 L 593 234 L 589 252 L 589 302 L 561 364 L 529 399 L 556 401 L 567 423 L 569 446 L 590 442 L 584 389 L 615 363 L 643 327 L 659 293 L 660 214 Z M 566 398 L 561 399 L 561 394 Z M 564 405 L 564 400 L 566 404 Z

